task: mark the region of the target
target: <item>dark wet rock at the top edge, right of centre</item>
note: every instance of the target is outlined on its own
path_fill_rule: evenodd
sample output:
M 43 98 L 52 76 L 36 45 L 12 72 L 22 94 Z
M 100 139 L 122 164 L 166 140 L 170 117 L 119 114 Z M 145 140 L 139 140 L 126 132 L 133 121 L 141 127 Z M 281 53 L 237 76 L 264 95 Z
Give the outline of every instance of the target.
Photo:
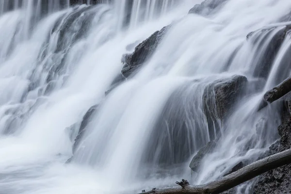
M 208 16 L 216 13 L 221 9 L 228 0 L 204 0 L 200 4 L 196 4 L 190 11 L 189 14 L 199 14 L 202 16 Z

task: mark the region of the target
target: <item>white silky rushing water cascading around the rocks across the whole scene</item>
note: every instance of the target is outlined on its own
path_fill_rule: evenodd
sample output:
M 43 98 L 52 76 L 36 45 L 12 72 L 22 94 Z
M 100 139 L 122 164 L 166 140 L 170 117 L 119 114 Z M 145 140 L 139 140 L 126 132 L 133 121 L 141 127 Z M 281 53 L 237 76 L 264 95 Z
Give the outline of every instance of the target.
M 291 1 L 229 0 L 207 15 L 187 15 L 201 1 L 69 7 L 68 0 L 1 0 L 0 194 L 135 193 L 180 178 L 206 183 L 240 161 L 257 160 L 278 138 L 279 115 L 276 104 L 259 113 L 256 107 L 263 91 L 289 75 L 282 69 L 290 63 L 291 41 L 287 34 L 262 72 L 282 29 L 275 24 L 246 35 L 286 16 Z M 133 51 L 128 46 L 172 22 L 142 69 L 105 97 L 122 55 Z M 203 92 L 235 74 L 261 85 L 250 87 L 211 132 Z M 65 164 L 84 113 L 96 104 L 73 161 Z M 264 132 L 254 138 L 257 123 Z M 215 152 L 191 175 L 193 155 L 217 138 Z

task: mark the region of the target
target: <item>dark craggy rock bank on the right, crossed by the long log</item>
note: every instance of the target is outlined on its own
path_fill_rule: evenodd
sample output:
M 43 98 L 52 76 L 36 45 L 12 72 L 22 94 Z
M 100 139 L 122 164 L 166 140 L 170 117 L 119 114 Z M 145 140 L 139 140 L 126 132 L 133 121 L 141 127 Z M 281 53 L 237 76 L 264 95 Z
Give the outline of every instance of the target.
M 286 106 L 287 105 L 287 106 Z M 282 124 L 278 127 L 281 139 L 270 146 L 266 156 L 284 151 L 291 147 L 290 102 L 285 102 L 282 113 Z M 285 165 L 259 176 L 254 186 L 254 194 L 290 194 L 291 164 Z

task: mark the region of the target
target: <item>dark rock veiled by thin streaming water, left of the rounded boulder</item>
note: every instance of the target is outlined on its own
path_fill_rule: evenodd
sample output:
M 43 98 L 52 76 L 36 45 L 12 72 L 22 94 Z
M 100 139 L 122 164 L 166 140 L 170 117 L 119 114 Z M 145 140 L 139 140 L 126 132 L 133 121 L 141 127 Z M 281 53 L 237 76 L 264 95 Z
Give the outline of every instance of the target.
M 201 107 L 204 85 L 192 80 L 170 95 L 151 131 L 145 163 L 154 162 L 162 169 L 181 164 L 209 142 Z

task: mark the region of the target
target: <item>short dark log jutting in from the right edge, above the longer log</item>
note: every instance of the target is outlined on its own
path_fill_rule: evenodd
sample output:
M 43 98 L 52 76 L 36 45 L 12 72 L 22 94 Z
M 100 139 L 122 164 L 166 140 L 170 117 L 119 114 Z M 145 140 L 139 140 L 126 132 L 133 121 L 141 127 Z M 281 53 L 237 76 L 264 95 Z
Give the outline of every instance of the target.
M 275 86 L 273 89 L 268 90 L 265 93 L 263 100 L 259 104 L 258 111 L 266 107 L 269 103 L 272 103 L 275 100 L 279 99 L 280 97 L 283 97 L 290 91 L 291 91 L 291 77 L 282 81 L 279 85 Z

